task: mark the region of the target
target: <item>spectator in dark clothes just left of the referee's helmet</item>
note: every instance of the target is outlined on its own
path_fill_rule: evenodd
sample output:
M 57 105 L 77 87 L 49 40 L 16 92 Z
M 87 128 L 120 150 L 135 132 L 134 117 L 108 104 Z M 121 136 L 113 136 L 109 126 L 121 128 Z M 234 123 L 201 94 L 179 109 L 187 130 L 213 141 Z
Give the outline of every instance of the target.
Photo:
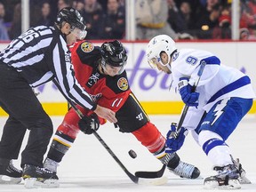
M 51 5 L 48 2 L 44 2 L 41 5 L 41 17 L 37 21 L 38 25 L 52 26 L 53 20 L 51 18 Z

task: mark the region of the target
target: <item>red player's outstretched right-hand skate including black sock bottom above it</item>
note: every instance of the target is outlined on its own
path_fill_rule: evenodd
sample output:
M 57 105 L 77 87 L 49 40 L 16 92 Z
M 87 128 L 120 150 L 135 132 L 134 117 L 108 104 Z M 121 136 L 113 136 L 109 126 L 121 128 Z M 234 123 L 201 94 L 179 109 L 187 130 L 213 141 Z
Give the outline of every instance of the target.
M 196 179 L 199 177 L 199 169 L 192 164 L 180 161 L 180 157 L 176 153 L 166 154 L 164 158 L 165 159 L 162 159 L 163 161 L 161 159 L 160 160 L 167 165 L 170 172 L 180 176 L 181 178 Z

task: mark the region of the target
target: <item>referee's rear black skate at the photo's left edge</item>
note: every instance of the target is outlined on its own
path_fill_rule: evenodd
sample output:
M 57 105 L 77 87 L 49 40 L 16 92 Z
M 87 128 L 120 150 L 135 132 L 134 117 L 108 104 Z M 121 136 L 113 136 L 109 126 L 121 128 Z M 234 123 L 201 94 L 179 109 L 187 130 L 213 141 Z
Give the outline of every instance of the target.
M 13 166 L 12 160 L 7 165 L 0 164 L 0 184 L 18 184 L 21 176 L 21 170 Z

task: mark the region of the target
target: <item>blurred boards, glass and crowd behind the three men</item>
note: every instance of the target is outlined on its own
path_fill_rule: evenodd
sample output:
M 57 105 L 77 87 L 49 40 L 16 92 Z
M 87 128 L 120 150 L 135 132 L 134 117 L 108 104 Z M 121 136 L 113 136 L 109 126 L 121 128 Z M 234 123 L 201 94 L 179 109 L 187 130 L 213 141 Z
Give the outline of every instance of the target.
M 85 39 L 124 44 L 130 86 L 148 114 L 180 114 L 183 107 L 180 95 L 169 90 L 171 77 L 150 68 L 145 57 L 148 40 L 160 34 L 171 36 L 178 49 L 216 54 L 221 63 L 250 76 L 256 91 L 256 0 L 0 0 L 0 50 L 30 27 L 52 26 L 66 6 L 84 16 Z M 35 92 L 49 115 L 67 111 L 54 84 Z M 256 113 L 255 102 L 250 113 Z

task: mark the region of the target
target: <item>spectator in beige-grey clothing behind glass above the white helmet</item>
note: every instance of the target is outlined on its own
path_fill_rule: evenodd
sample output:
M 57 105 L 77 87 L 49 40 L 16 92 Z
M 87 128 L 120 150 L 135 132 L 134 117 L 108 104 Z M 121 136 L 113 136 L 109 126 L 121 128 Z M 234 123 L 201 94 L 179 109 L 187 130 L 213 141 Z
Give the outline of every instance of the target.
M 167 21 L 167 0 L 137 0 L 135 9 L 137 39 L 151 39 L 160 34 L 178 39 L 178 35 Z

